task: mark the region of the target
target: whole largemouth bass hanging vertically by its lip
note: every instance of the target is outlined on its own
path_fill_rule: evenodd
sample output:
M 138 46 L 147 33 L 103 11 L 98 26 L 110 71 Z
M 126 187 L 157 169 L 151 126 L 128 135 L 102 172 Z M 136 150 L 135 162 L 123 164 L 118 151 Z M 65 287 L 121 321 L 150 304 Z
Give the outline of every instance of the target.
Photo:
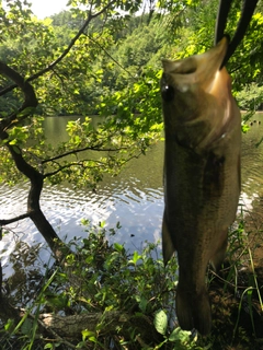
M 163 259 L 178 252 L 179 324 L 202 335 L 211 327 L 207 265 L 224 260 L 240 195 L 241 117 L 230 77 L 219 69 L 227 46 L 224 37 L 203 55 L 162 61 Z

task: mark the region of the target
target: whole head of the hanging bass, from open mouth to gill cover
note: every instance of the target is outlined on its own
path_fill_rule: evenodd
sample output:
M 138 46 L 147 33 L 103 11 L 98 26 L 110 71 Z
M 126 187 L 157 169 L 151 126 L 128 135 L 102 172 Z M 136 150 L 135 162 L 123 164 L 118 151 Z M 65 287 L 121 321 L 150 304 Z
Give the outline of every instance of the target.
M 231 79 L 226 68 L 220 69 L 227 48 L 228 38 L 224 37 L 202 55 L 162 61 L 165 136 L 172 132 L 196 152 L 225 136 L 231 122 Z M 193 124 L 199 125 L 197 135 L 192 135 Z

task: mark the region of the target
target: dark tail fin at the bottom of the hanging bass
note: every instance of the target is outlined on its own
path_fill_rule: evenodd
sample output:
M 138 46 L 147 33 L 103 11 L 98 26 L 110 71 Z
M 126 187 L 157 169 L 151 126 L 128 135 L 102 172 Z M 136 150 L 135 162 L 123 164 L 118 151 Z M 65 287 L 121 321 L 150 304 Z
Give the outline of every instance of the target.
M 206 288 L 198 294 L 176 291 L 175 306 L 179 325 L 182 329 L 197 329 L 203 336 L 208 335 L 211 328 L 211 310 Z

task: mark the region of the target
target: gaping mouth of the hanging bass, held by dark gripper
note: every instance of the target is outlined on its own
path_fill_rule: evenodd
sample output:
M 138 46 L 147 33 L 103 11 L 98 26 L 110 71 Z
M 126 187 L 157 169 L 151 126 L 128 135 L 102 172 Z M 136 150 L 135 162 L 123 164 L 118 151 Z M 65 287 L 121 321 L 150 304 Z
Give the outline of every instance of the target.
M 164 77 L 171 75 L 174 85 L 181 92 L 186 92 L 193 84 L 198 84 L 206 92 L 210 92 L 216 81 L 215 77 L 227 54 L 228 38 L 224 37 L 208 51 L 188 58 L 172 61 L 162 60 Z

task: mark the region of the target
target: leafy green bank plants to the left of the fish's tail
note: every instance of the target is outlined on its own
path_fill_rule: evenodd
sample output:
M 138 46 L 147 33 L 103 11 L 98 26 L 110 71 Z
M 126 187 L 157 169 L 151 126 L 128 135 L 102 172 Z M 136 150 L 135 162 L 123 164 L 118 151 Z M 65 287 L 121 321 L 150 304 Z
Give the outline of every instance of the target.
M 196 335 L 176 327 L 176 259 L 164 268 L 158 245 L 148 242 L 133 254 L 124 244 L 110 245 L 106 236 L 119 224 L 108 231 L 104 223 L 82 224 L 87 237 L 71 241 L 72 253 L 46 271 L 21 322 L 3 326 L 1 349 L 201 349 Z M 67 337 L 44 325 L 42 315 L 99 315 L 99 322 L 82 323 Z

